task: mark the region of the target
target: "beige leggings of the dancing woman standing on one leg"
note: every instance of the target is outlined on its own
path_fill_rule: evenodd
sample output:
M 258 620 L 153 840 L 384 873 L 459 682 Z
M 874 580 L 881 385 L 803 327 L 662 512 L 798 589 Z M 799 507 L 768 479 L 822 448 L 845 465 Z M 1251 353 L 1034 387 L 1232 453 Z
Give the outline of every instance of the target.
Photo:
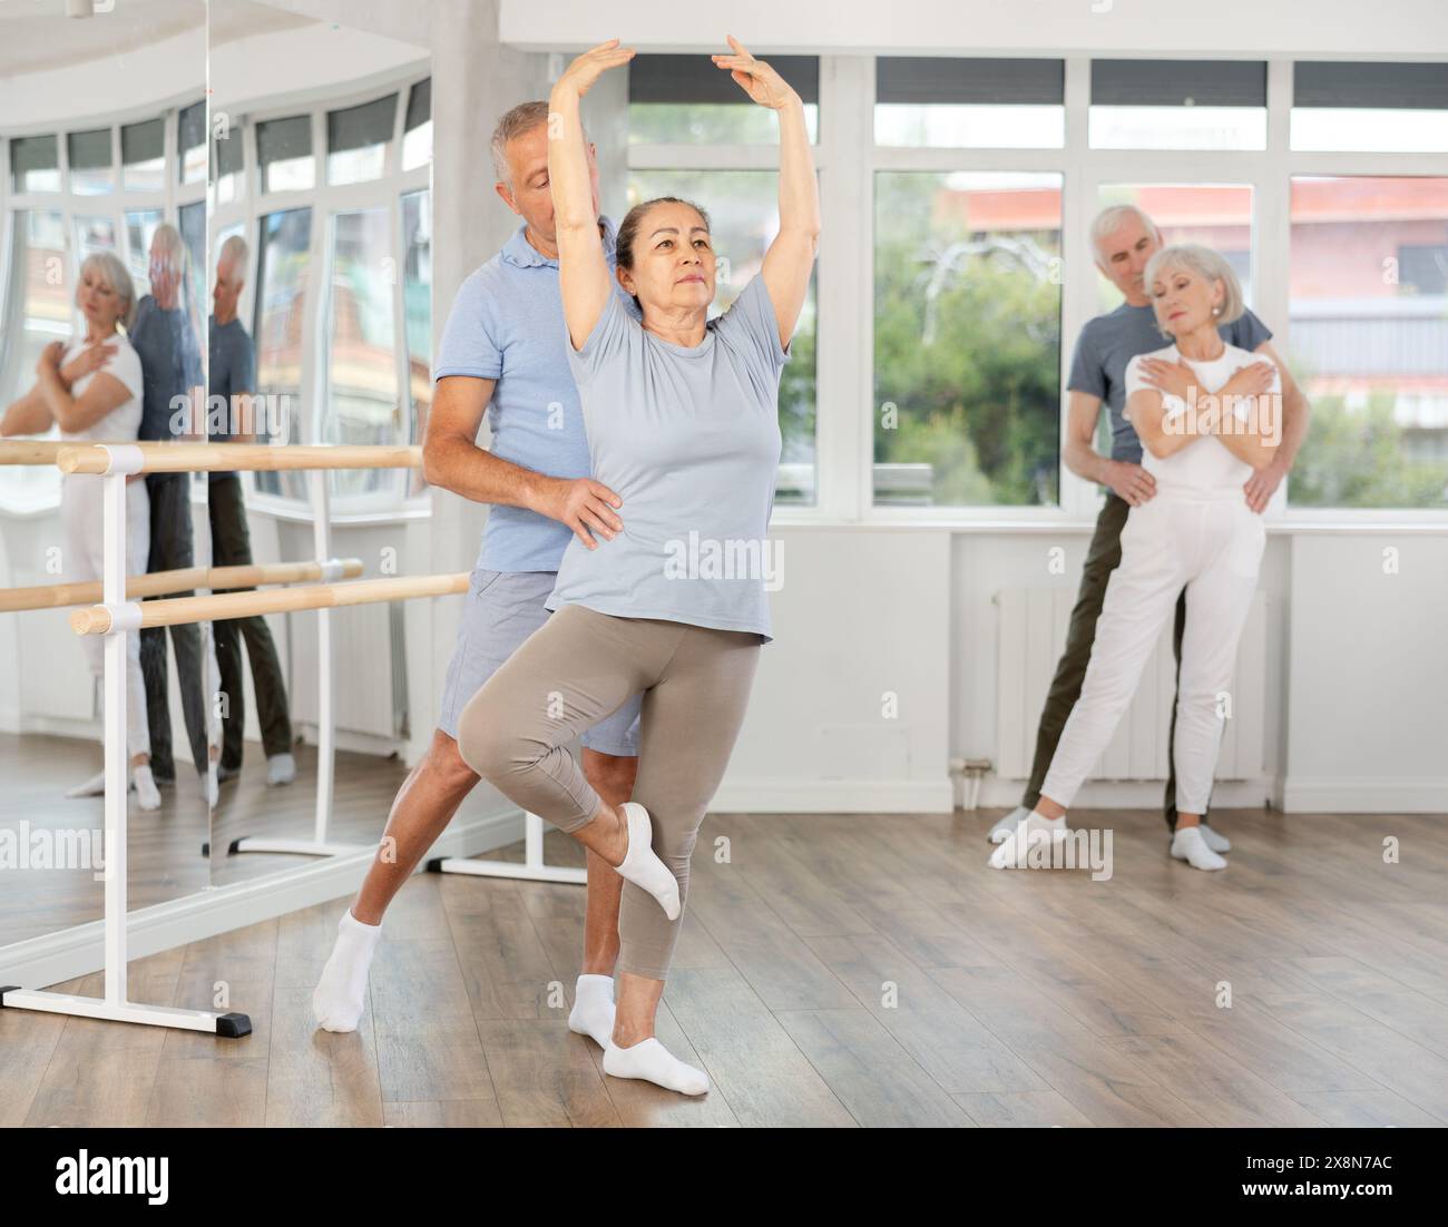
M 624 883 L 618 971 L 665 980 L 683 923 L 689 855 L 728 765 L 759 666 L 759 635 L 565 605 L 508 657 L 458 718 L 458 752 L 508 800 L 559 831 L 592 822 L 598 794 L 563 747 L 643 693 L 633 800 L 679 880 L 679 919 Z

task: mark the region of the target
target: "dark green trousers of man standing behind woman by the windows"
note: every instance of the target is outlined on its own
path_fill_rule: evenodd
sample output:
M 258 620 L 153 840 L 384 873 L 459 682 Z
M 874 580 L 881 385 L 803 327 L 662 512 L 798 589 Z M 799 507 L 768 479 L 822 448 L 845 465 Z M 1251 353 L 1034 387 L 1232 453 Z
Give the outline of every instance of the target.
M 1112 491 L 1106 492 L 1106 505 L 1096 518 L 1096 531 L 1092 534 L 1090 548 L 1086 551 L 1082 586 L 1076 593 L 1072 624 L 1066 632 L 1066 650 L 1061 653 L 1060 664 L 1056 666 L 1056 677 L 1051 679 L 1051 690 L 1045 696 L 1045 709 L 1041 712 L 1041 723 L 1035 732 L 1035 760 L 1031 764 L 1031 780 L 1025 786 L 1025 796 L 1021 797 L 1021 804 L 1027 809 L 1034 809 L 1041 799 L 1041 784 L 1051 770 L 1056 744 L 1061 739 L 1061 729 L 1066 728 L 1072 708 L 1080 697 L 1086 666 L 1090 663 L 1090 647 L 1096 641 L 1096 619 L 1100 616 L 1100 606 L 1106 599 L 1106 582 L 1111 579 L 1111 573 L 1121 566 L 1121 530 L 1127 527 L 1127 512 L 1129 511 L 1131 505 L 1125 499 L 1118 498 Z M 1177 598 L 1176 627 L 1171 634 L 1179 679 L 1182 676 L 1182 632 L 1184 629 L 1186 587 Z M 1166 791 L 1166 819 L 1171 831 L 1176 831 L 1176 709 L 1177 696 L 1173 695 L 1171 728 L 1167 734 Z M 1202 820 L 1206 820 L 1206 815 L 1202 815 Z

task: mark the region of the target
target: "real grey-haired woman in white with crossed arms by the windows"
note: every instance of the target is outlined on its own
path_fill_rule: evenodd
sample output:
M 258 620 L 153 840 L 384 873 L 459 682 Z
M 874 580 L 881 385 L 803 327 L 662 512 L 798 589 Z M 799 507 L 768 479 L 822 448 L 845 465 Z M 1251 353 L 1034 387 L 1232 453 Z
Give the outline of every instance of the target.
M 1106 586 L 1080 699 L 1040 802 L 992 854 L 995 868 L 1061 859 L 1050 851 L 1066 836 L 1066 809 L 1125 713 L 1183 586 L 1171 855 L 1199 870 L 1226 865 L 1199 826 L 1221 747 L 1221 696 L 1231 684 L 1267 540 L 1242 485 L 1273 459 L 1281 376 L 1271 362 L 1226 344 L 1218 333 L 1218 324 L 1244 310 L 1241 286 L 1221 255 L 1196 245 L 1163 247 L 1145 268 L 1145 284 L 1157 326 L 1173 343 L 1127 366 L 1125 412 L 1157 495 L 1127 517 L 1121 566 Z

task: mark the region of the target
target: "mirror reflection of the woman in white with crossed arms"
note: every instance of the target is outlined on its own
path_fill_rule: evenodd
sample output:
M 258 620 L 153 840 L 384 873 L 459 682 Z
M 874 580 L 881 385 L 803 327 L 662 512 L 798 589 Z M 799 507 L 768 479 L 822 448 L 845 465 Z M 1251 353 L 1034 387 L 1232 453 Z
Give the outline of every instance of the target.
M 35 365 L 36 382 L 0 418 L 0 436 L 43 434 L 54 423 L 65 441 L 129 443 L 140 428 L 140 357 L 119 330 L 136 310 L 136 291 L 125 263 L 111 252 L 96 252 L 81 263 L 75 305 L 85 317 L 85 334 L 70 344 L 52 341 Z M 101 577 L 104 515 L 103 477 L 67 473 L 61 480 L 61 527 L 65 532 L 62 569 L 70 583 Z M 126 482 L 126 573 L 145 574 L 151 541 L 151 504 L 143 480 Z M 96 677 L 106 671 L 100 635 L 81 642 Z M 161 794 L 151 774 L 151 734 L 146 690 L 140 677 L 140 635 L 127 637 L 126 729 L 132 783 L 142 809 L 156 809 Z M 71 796 L 104 787 L 104 774 Z

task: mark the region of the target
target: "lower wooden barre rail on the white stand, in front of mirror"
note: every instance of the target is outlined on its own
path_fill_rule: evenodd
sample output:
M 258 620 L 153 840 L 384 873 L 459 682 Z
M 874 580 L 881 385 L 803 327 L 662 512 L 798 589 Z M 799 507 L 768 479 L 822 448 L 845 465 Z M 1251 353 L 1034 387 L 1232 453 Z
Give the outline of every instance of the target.
M 252 618 L 258 614 L 295 614 L 300 609 L 334 609 L 345 605 L 371 605 L 379 600 L 413 600 L 418 596 L 452 596 L 468 590 L 468 572 L 437 576 L 397 576 L 363 579 L 356 583 L 314 583 L 304 587 L 277 587 L 266 592 L 227 592 L 220 596 L 178 596 L 171 600 L 146 600 L 139 618 L 126 629 L 178 627 L 187 622 L 211 622 Z M 91 605 L 71 614 L 77 635 L 106 635 L 111 629 L 111 611 Z

